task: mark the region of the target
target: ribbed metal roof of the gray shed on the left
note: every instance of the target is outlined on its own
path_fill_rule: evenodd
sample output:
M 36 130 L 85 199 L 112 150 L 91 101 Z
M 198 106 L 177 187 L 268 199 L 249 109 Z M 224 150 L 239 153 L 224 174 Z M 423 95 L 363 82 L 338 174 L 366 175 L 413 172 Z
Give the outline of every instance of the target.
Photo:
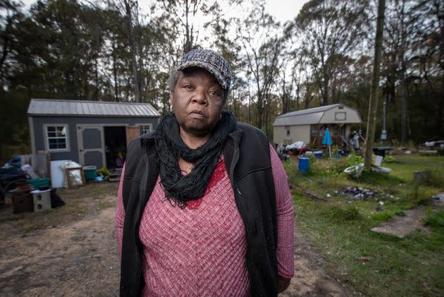
M 31 99 L 30 116 L 160 116 L 149 103 L 81 101 L 63 99 Z

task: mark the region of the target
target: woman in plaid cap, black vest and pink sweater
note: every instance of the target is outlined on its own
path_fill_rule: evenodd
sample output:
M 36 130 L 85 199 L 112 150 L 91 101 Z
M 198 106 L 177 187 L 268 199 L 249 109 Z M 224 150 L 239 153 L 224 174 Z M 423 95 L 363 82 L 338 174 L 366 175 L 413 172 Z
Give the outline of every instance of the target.
M 285 171 L 223 111 L 230 66 L 207 49 L 172 73 L 173 113 L 133 140 L 118 190 L 121 296 L 276 296 L 293 276 Z

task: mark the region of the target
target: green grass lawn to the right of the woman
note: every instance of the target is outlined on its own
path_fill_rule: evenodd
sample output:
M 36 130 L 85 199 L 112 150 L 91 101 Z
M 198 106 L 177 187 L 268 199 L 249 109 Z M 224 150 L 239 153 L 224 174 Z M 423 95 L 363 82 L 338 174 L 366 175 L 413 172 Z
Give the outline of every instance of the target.
M 364 172 L 359 179 L 341 174 L 359 159 L 310 159 L 310 171 L 297 171 L 297 159 L 284 162 L 292 186 L 295 219 L 307 241 L 326 257 L 337 279 L 366 296 L 444 296 L 444 211 L 433 210 L 432 196 L 444 191 L 444 157 L 395 155 L 383 163 L 388 176 Z M 414 182 L 414 171 L 430 170 L 427 184 Z M 378 193 L 360 200 L 341 195 L 345 186 Z M 303 192 L 324 200 L 314 200 Z M 328 197 L 328 195 L 330 197 Z M 426 209 L 428 233 L 404 238 L 370 229 L 403 211 Z

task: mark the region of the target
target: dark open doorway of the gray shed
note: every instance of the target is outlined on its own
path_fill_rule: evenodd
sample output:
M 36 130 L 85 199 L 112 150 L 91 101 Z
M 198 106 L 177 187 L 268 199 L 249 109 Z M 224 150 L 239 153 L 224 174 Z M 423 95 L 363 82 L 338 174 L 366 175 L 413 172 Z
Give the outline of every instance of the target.
M 106 168 L 122 168 L 126 159 L 125 126 L 105 126 Z

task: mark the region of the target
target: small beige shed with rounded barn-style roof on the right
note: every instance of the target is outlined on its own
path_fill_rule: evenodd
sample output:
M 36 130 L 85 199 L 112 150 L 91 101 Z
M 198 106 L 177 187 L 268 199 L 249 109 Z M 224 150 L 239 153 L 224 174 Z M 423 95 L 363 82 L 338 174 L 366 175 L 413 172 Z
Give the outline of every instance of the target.
M 320 147 L 326 128 L 333 144 L 347 145 L 351 126 L 360 128 L 361 116 L 356 109 L 344 104 L 332 104 L 282 114 L 273 123 L 273 143 L 289 145 L 296 141 Z

